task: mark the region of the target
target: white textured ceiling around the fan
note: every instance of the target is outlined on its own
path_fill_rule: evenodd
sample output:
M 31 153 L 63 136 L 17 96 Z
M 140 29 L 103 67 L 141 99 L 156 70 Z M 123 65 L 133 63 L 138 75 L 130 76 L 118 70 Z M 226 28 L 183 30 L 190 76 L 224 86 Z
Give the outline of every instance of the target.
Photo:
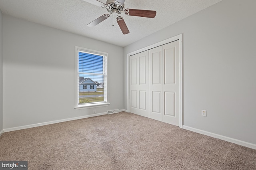
M 155 18 L 120 14 L 130 30 L 126 35 L 115 20 L 112 26 L 112 16 L 93 28 L 88 27 L 87 24 L 108 12 L 82 0 L 0 0 L 0 10 L 9 16 L 124 47 L 220 1 L 126 0 L 125 8 L 156 10 Z

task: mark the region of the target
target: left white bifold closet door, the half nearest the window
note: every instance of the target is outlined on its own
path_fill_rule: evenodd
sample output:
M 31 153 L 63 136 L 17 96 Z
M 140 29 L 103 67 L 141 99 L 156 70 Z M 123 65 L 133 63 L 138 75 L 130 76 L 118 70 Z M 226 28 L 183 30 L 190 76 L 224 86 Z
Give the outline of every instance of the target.
M 130 56 L 130 112 L 149 117 L 148 51 Z

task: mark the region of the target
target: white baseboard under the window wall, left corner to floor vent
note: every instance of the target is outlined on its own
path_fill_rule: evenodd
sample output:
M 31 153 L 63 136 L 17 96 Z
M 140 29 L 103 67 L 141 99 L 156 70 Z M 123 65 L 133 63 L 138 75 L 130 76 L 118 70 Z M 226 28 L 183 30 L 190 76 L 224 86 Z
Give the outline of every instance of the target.
M 80 116 L 80 117 L 72 117 L 72 118 L 68 118 L 68 119 L 61 119 L 61 120 L 57 120 L 57 121 L 37 123 L 37 124 L 33 124 L 33 125 L 25 125 L 25 126 L 20 126 L 20 127 L 6 128 L 6 129 L 3 130 L 3 132 L 10 132 L 10 131 L 14 131 L 14 130 L 21 130 L 21 129 L 32 128 L 32 127 L 40 127 L 40 126 L 50 125 L 50 124 L 54 124 L 54 123 L 74 121 L 74 120 L 78 120 L 78 119 L 84 119 L 84 118 L 88 118 L 88 117 L 96 117 L 96 116 L 101 116 L 101 115 L 107 115 L 107 113 L 106 112 L 105 113 L 97 113 L 97 114 L 92 114 L 92 115 L 85 115 L 85 116 Z

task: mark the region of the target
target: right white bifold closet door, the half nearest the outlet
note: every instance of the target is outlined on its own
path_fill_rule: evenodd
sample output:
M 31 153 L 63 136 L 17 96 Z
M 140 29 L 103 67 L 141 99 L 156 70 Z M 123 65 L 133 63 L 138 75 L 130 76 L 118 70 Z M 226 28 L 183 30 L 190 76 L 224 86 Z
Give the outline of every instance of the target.
M 149 118 L 179 126 L 179 41 L 149 50 Z

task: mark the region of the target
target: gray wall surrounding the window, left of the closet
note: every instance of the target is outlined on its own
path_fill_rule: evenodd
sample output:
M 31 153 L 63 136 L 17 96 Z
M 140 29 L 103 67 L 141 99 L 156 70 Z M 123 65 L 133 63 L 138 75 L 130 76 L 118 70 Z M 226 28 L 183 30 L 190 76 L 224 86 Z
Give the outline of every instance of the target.
M 74 109 L 75 46 L 109 54 L 108 107 Z M 3 49 L 4 129 L 124 108 L 123 47 L 3 15 Z

